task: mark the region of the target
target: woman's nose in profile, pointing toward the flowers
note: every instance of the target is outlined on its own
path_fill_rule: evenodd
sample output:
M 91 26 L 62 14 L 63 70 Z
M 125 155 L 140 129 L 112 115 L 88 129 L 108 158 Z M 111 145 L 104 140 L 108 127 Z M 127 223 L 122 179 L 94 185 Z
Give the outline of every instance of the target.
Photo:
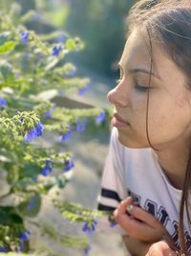
M 109 91 L 107 98 L 111 104 L 121 107 L 126 107 L 129 105 L 129 93 L 123 86 L 124 84 L 118 84 L 113 90 Z

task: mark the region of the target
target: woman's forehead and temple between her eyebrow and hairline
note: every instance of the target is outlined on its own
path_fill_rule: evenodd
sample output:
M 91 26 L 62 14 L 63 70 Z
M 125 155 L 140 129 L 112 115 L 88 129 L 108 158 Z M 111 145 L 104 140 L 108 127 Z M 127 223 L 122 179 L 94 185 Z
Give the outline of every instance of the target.
M 161 81 L 184 81 L 184 74 L 176 63 L 161 50 L 159 43 L 152 43 L 151 53 L 148 35 L 138 30 L 133 31 L 127 39 L 119 64 L 124 70 L 134 68 L 150 70 L 151 58 L 153 59 L 152 70 L 161 78 Z

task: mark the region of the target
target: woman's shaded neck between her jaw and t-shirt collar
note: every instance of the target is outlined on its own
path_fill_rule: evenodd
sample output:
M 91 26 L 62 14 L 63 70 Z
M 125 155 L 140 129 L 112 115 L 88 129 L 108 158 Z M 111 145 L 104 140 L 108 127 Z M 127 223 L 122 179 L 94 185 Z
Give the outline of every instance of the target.
M 155 151 L 158 155 L 159 165 L 167 175 L 170 183 L 177 189 L 182 189 L 186 172 L 189 150 L 185 146 L 175 151 L 173 148 Z

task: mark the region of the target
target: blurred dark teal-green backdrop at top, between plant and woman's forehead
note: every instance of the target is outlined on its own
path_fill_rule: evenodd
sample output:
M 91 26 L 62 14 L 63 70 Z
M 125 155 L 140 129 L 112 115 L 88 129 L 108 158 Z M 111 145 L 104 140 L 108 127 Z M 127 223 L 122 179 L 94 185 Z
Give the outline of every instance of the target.
M 85 43 L 83 51 L 74 54 L 78 68 L 89 69 L 103 77 L 117 77 L 117 61 L 125 41 L 125 17 L 135 0 L 1 0 L 4 9 L 11 3 L 22 6 L 21 13 L 37 9 L 38 17 L 28 24 L 35 31 L 51 33 L 54 28 L 78 35 Z M 46 13 L 46 20 L 40 13 Z M 44 18 L 44 15 L 43 15 Z M 60 41 L 64 40 L 60 36 Z

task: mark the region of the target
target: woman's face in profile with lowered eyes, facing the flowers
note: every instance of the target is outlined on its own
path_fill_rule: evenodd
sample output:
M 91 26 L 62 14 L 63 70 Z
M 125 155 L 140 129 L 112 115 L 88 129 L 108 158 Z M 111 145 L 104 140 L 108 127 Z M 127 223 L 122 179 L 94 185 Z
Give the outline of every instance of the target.
M 148 103 L 148 135 L 152 146 L 158 150 L 179 147 L 190 138 L 191 94 L 185 87 L 184 74 L 157 43 L 152 47 L 155 64 L 149 88 L 148 45 L 136 30 L 125 44 L 118 63 L 120 79 L 108 94 L 109 101 L 115 105 L 113 126 L 117 127 L 123 145 L 150 147 L 146 134 Z

